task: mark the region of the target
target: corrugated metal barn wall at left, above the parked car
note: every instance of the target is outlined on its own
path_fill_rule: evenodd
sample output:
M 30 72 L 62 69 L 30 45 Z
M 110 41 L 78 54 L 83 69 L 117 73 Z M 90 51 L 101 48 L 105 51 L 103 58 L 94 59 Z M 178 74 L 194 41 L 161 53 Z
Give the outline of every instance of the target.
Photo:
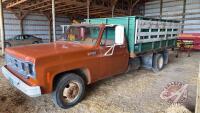
M 11 38 L 15 35 L 21 34 L 19 20 L 9 11 L 4 11 L 5 23 L 5 38 Z M 56 17 L 56 36 L 62 34 L 60 25 L 69 24 L 67 17 Z M 24 34 L 32 34 L 34 36 L 49 40 L 49 25 L 48 19 L 41 14 L 29 14 L 23 21 Z

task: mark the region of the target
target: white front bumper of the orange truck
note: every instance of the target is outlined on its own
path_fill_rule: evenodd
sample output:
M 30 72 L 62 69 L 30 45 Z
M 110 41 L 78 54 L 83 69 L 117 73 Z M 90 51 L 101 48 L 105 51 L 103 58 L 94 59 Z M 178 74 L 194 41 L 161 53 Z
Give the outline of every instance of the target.
M 3 75 L 9 80 L 10 84 L 30 97 L 41 96 L 40 86 L 29 86 L 22 80 L 14 76 L 6 67 L 1 68 Z

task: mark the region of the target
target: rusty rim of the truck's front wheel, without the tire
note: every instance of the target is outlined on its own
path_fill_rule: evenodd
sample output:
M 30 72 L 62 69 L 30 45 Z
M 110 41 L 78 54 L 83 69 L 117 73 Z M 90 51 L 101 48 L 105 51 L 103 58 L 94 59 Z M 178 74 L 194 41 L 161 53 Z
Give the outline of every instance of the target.
M 63 98 L 71 103 L 78 98 L 80 85 L 75 81 L 70 81 L 63 90 Z

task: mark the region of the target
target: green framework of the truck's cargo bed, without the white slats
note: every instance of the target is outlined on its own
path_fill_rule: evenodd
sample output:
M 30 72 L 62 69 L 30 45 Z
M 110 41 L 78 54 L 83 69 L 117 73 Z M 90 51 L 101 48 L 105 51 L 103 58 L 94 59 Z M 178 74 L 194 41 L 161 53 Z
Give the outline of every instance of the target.
M 125 36 L 128 41 L 128 47 L 130 52 L 141 53 L 148 52 L 150 50 L 157 50 L 161 48 L 169 48 L 176 46 L 176 39 L 161 40 L 155 42 L 145 42 L 135 44 L 135 29 L 136 29 L 136 20 L 152 20 L 152 21 L 163 21 L 163 22 L 174 22 L 178 23 L 179 21 L 175 20 L 164 20 L 164 19 L 152 19 L 139 16 L 127 16 L 127 17 L 114 17 L 114 18 L 95 18 L 95 19 L 86 19 L 87 22 L 91 24 L 117 24 L 123 25 L 125 27 Z

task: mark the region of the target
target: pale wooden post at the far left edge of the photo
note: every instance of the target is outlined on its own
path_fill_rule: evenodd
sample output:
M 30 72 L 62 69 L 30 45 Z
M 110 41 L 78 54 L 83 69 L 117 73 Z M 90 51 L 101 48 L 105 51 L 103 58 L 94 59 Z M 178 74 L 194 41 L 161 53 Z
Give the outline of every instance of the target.
M 1 29 L 1 52 L 4 55 L 4 41 L 5 41 L 5 27 L 4 27 L 4 15 L 3 15 L 3 3 L 0 0 L 0 29 Z

